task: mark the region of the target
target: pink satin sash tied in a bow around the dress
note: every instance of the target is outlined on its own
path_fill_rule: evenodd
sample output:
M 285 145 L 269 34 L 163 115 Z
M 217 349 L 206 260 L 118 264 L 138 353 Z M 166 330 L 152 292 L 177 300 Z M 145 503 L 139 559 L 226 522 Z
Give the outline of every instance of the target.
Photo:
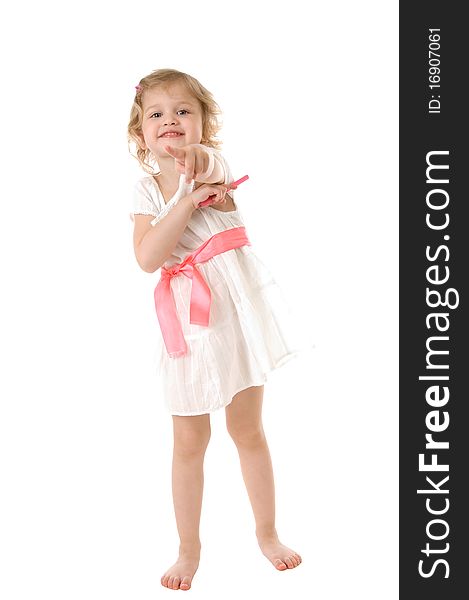
M 192 280 L 190 322 L 208 327 L 212 297 L 210 288 L 195 265 L 227 250 L 250 245 L 245 227 L 234 227 L 213 235 L 181 263 L 169 269 L 161 267 L 161 278 L 155 288 L 155 308 L 166 350 L 171 358 L 183 356 L 187 352 L 171 290 L 171 278 L 182 273 Z

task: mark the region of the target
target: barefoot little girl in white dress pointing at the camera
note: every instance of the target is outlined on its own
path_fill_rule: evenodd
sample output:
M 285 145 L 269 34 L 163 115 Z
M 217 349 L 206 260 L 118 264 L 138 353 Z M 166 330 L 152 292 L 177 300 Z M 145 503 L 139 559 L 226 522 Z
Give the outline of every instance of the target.
M 161 583 L 182 590 L 191 587 L 199 565 L 204 454 L 210 413 L 222 407 L 261 551 L 280 571 L 301 563 L 275 528 L 274 478 L 262 425 L 266 374 L 299 349 L 291 345 L 294 328 L 288 329 L 280 288 L 252 252 L 229 191 L 234 179 L 215 139 L 218 114 L 212 94 L 197 79 L 159 69 L 136 86 L 128 125 L 129 143 L 148 174 L 134 190 L 133 244 L 145 272 L 161 268 L 157 363 L 173 418 L 180 546 Z

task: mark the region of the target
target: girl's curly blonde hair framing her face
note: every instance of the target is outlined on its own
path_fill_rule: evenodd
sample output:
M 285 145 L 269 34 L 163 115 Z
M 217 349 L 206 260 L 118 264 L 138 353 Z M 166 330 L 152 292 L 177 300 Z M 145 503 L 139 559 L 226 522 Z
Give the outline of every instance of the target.
M 142 169 L 150 175 L 155 174 L 153 167 L 149 163 L 151 151 L 148 148 L 143 149 L 139 145 L 139 141 L 142 140 L 143 93 L 145 90 L 158 86 L 167 89 L 172 83 L 178 81 L 182 81 L 187 91 L 199 101 L 202 110 L 202 139 L 200 143 L 215 149 L 220 149 L 221 147 L 221 141 L 216 139 L 216 135 L 221 129 L 218 116 L 222 114 L 222 111 L 207 88 L 197 81 L 195 77 L 176 69 L 158 69 L 152 71 L 150 75 L 143 77 L 138 86 L 136 86 L 138 89 L 136 89 L 134 102 L 130 111 L 129 124 L 127 126 L 129 152 L 138 160 Z M 136 154 L 131 151 L 131 144 L 136 146 Z

